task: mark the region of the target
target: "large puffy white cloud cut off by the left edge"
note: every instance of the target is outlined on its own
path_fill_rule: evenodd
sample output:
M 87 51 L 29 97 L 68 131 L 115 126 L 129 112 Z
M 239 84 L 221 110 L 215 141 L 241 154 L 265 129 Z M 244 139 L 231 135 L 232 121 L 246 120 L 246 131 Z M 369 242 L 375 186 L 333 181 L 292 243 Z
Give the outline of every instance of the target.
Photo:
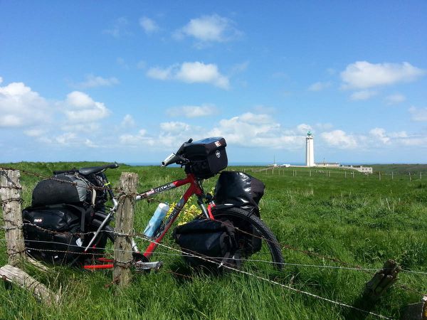
M 45 124 L 51 118 L 51 105 L 23 82 L 0 87 L 0 127 Z

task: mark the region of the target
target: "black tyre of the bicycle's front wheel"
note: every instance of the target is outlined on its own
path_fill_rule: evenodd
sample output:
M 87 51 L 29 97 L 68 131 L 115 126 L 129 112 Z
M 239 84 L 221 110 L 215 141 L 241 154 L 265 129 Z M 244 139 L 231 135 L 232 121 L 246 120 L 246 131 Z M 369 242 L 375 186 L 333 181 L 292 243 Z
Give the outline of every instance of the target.
M 248 237 L 259 238 L 262 241 L 262 247 L 268 248 L 271 260 L 258 261 L 270 262 L 276 270 L 283 269 L 283 255 L 282 250 L 280 250 L 279 242 L 270 228 L 268 228 L 268 226 L 265 225 L 258 216 L 241 208 L 213 210 L 212 213 L 216 220 L 230 220 L 236 227 L 236 234 L 238 235 L 238 238 L 243 239 L 244 241 L 246 241 Z M 243 255 L 242 257 L 243 263 L 246 263 L 245 260 L 251 261 L 249 257 L 256 257 L 257 254 L 258 252 L 251 252 L 251 250 L 249 250 L 249 252 L 246 252 L 246 256 Z

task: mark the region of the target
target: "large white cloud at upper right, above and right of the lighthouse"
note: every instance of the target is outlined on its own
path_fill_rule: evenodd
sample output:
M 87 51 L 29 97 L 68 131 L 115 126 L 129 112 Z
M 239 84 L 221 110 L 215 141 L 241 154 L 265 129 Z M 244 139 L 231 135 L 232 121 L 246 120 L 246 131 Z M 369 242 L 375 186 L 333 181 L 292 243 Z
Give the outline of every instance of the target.
M 357 61 L 342 71 L 344 89 L 367 89 L 398 82 L 410 82 L 425 75 L 426 71 L 410 63 L 369 63 Z

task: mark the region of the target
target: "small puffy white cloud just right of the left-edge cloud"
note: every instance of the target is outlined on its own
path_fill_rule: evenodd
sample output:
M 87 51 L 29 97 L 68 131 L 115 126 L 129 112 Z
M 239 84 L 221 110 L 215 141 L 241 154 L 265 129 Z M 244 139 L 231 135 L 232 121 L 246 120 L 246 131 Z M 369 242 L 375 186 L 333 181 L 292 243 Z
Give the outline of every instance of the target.
M 95 122 L 110 114 L 102 102 L 94 101 L 84 92 L 73 91 L 65 100 L 65 115 L 70 122 Z

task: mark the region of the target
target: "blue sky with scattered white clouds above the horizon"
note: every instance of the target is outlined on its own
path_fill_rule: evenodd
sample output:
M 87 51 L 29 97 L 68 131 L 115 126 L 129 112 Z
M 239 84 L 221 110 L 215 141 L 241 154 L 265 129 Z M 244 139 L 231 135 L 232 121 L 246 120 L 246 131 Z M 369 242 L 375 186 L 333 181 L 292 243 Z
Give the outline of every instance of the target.
M 426 1 L 0 0 L 0 162 L 426 163 Z

